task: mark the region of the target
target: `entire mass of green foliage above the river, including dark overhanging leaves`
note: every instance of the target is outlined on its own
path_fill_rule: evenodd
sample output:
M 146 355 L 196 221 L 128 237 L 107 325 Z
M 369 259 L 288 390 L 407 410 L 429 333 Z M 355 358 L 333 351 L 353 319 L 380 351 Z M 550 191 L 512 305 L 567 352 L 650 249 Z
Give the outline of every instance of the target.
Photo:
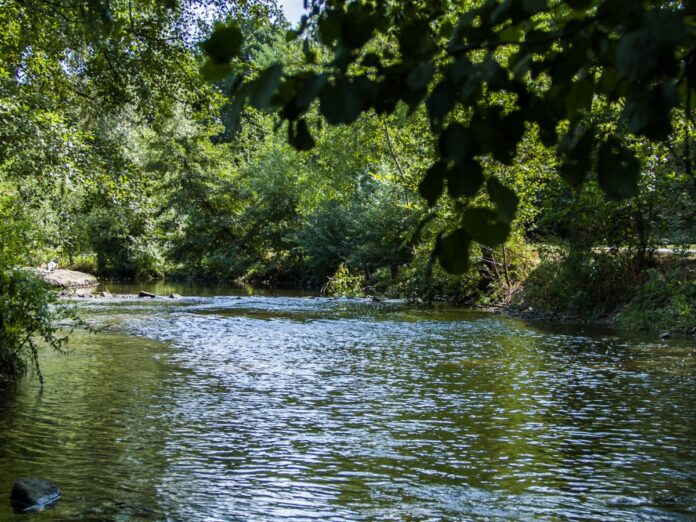
M 681 3 L 4 2 L 3 373 L 54 257 L 687 330 L 693 49 Z

